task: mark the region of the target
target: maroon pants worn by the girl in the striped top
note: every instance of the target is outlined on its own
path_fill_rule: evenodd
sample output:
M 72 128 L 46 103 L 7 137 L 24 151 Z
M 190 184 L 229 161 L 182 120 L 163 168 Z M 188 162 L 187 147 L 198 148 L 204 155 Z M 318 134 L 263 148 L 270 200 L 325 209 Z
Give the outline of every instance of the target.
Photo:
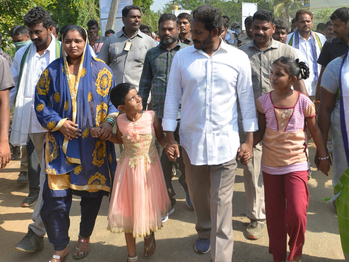
M 263 173 L 265 212 L 269 235 L 269 253 L 275 262 L 285 261 L 287 234 L 288 260 L 302 255 L 306 230 L 306 210 L 309 204 L 308 171 L 284 175 Z

